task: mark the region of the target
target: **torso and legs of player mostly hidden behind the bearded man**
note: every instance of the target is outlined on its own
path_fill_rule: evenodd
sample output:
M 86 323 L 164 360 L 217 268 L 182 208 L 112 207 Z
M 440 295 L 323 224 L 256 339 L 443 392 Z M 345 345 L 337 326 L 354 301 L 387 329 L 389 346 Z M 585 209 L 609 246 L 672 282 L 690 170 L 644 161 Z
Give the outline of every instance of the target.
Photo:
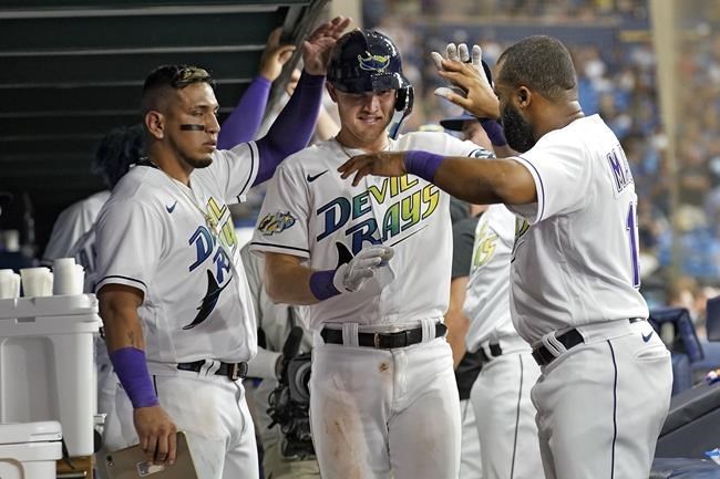
M 483 369 L 470 402 L 477 418 L 486 479 L 542 478 L 531 387 L 539 366 L 510 316 L 510 260 L 515 215 L 491 205 L 475 229 L 463 311 L 471 320 L 465 344 L 480 352 Z

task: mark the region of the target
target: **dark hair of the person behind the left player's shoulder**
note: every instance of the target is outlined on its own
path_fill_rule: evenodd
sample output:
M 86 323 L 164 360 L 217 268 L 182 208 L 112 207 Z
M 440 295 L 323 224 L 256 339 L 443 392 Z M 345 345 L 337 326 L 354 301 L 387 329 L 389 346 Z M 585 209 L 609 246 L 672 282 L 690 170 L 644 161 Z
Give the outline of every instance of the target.
M 142 124 L 111 129 L 97 144 L 90 170 L 112 189 L 120 178 L 145 156 L 145 129 Z

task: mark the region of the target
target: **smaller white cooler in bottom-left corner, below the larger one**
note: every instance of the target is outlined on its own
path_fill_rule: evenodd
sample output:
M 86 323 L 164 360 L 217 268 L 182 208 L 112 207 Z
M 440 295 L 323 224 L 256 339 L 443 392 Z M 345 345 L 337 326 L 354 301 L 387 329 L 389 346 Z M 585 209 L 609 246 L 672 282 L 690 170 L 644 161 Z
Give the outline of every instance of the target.
M 62 458 L 60 423 L 0 424 L 0 478 L 55 479 Z

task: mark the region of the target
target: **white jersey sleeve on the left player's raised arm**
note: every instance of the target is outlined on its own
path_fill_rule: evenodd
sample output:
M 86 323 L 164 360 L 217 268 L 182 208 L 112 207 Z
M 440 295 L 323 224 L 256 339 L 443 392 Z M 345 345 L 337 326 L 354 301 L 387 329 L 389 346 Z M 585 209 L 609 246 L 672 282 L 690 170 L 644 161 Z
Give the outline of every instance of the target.
M 245 201 L 259 167 L 255 142 L 240 143 L 232 149 L 218 149 L 213 155 L 209 173 L 223 191 L 227 205 Z

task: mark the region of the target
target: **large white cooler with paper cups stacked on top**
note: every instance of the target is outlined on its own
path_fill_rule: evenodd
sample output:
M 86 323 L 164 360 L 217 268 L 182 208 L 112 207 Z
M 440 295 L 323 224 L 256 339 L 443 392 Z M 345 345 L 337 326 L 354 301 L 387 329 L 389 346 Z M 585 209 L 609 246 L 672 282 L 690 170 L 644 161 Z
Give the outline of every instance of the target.
M 0 423 L 59 421 L 70 457 L 92 455 L 99 329 L 94 294 L 0 300 Z

